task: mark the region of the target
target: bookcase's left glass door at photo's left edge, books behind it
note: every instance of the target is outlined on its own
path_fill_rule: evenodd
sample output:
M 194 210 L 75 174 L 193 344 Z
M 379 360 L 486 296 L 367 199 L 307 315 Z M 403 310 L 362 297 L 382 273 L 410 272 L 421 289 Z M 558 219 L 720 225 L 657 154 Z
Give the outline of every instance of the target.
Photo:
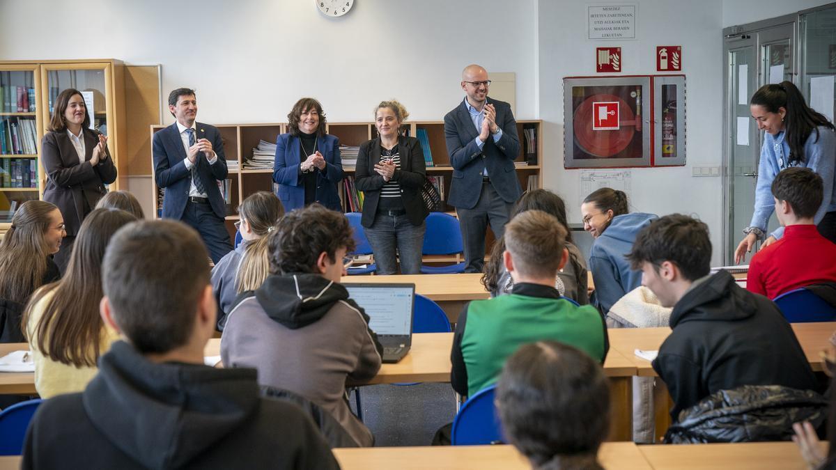
M 39 197 L 39 84 L 36 64 L 0 66 L 0 222 L 11 222 L 23 202 Z

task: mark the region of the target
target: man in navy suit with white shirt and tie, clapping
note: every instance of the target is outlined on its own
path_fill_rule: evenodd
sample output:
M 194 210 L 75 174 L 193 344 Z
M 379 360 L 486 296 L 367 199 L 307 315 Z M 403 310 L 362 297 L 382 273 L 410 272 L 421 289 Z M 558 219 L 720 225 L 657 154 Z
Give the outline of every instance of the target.
M 162 217 L 181 220 L 201 234 L 212 261 L 232 251 L 224 226 L 226 203 L 218 181 L 227 179 L 221 134 L 212 125 L 195 122 L 195 90 L 178 88 L 168 95 L 176 122 L 154 135 L 154 177 L 166 188 Z

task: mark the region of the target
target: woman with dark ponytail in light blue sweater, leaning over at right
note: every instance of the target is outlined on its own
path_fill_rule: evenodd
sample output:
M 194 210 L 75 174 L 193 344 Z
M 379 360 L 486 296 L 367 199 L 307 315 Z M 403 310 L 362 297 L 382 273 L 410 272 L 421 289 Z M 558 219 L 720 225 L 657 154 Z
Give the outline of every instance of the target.
M 735 250 L 735 263 L 740 263 L 746 253 L 752 251 L 757 240 L 766 238 L 764 248 L 782 237 L 783 227 L 778 227 L 768 237 L 766 231 L 775 209 L 772 180 L 790 166 L 807 167 L 822 177 L 824 197 L 813 221 L 824 238 L 836 243 L 836 194 L 833 192 L 836 133 L 833 124 L 810 108 L 798 88 L 788 81 L 763 85 L 752 95 L 749 105 L 757 128 L 766 132 L 757 166 L 755 212 L 749 227 L 743 231 L 746 238 Z

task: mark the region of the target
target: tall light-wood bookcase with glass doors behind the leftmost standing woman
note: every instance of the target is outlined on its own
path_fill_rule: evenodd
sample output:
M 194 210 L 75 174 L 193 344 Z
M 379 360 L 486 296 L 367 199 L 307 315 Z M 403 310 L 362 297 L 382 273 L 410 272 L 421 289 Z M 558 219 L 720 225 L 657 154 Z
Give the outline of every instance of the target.
M 13 149 L 8 148 L 8 142 L 5 142 L 5 151 L 0 148 L 0 175 L 3 175 L 3 183 L 0 184 L 3 186 L 0 187 L 0 231 L 3 230 L 2 222 L 10 222 L 12 207 L 43 197 L 47 176 L 40 160 L 41 140 L 52 115 L 53 100 L 64 89 L 75 88 L 92 94 L 94 109 L 88 110 L 91 122 L 108 136 L 110 154 L 119 172 L 119 178 L 109 189 L 127 187 L 127 166 L 125 158 L 122 158 L 127 152 L 124 74 L 125 65 L 115 59 L 0 61 L 0 87 L 3 88 L 3 95 L 0 95 L 0 111 L 3 111 L 0 112 L 0 128 L 5 127 L 8 133 L 14 124 L 18 134 L 18 142 Z M 21 93 L 26 95 L 25 98 Z M 28 109 L 23 110 L 26 105 Z M 27 133 L 25 136 L 24 131 Z M 25 144 L 23 140 L 26 140 Z M 0 143 L 3 143 L 2 140 Z M 6 187 L 9 186 L 6 176 L 11 169 L 10 164 L 18 161 L 23 161 L 24 171 L 27 166 L 30 168 L 29 187 Z M 34 175 L 32 170 L 35 170 Z M 26 179 L 23 178 L 23 181 L 25 186 Z M 13 182 L 11 184 L 14 185 Z M 18 186 L 20 184 L 18 182 Z

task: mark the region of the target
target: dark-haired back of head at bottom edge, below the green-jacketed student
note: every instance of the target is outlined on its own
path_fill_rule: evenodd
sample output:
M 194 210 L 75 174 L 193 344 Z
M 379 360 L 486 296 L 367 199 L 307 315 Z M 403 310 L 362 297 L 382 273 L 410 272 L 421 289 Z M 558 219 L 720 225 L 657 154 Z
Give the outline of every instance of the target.
M 594 467 L 609 432 L 609 381 L 584 351 L 538 341 L 505 363 L 497 407 L 507 438 L 533 467 Z

